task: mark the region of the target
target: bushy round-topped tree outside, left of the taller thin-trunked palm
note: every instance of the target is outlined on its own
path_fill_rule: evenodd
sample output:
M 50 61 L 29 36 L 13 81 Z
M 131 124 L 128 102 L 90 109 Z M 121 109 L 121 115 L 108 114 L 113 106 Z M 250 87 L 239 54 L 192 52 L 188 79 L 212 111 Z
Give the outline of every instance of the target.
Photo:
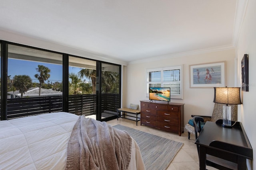
M 19 90 L 20 98 L 22 98 L 23 94 L 27 92 L 30 87 L 32 87 L 32 80 L 28 75 L 16 75 L 13 79 L 13 86 L 16 88 L 16 90 Z

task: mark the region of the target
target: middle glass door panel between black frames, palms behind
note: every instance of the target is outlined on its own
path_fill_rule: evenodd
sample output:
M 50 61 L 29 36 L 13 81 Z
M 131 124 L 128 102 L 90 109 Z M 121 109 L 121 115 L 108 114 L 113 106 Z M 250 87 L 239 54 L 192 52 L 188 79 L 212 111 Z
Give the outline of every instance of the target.
M 96 119 L 96 61 L 68 58 L 68 112 Z

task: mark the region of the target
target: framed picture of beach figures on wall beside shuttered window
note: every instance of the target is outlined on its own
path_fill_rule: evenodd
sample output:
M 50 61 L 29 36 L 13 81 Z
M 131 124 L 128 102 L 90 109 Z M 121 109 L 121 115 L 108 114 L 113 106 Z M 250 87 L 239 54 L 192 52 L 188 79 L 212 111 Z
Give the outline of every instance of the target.
M 225 87 L 226 61 L 190 66 L 190 88 Z

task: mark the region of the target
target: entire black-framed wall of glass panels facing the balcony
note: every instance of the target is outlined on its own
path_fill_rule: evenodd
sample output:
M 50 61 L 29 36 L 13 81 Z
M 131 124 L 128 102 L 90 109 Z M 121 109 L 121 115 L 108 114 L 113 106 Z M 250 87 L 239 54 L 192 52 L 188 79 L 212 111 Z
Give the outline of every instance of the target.
M 2 40 L 0 59 L 0 120 L 58 111 L 116 118 L 121 65 Z

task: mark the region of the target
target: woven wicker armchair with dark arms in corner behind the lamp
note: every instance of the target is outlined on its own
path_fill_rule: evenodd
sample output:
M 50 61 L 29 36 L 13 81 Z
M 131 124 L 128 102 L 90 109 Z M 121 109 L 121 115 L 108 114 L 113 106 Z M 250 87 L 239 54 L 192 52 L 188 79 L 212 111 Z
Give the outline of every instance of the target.
M 205 116 L 205 115 L 191 115 L 191 117 L 194 116 L 200 116 L 204 119 L 204 123 L 206 121 L 213 121 L 216 122 L 218 119 L 223 119 L 223 104 L 215 103 L 214 108 L 212 111 L 212 116 Z M 237 121 L 237 105 L 231 105 L 231 121 Z M 195 128 L 193 125 L 190 125 L 187 123 L 185 125 L 185 129 L 188 131 L 188 139 L 190 139 L 190 133 L 195 135 Z

